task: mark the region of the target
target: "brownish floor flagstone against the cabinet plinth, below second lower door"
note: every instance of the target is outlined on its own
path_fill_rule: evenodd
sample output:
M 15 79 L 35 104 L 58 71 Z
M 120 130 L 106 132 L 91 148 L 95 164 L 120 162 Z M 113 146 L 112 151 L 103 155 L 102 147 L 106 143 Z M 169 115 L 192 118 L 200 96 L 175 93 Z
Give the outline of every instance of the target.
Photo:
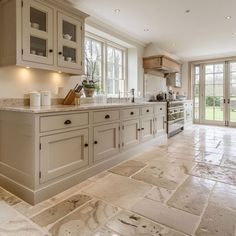
M 114 174 L 129 177 L 129 176 L 135 174 L 136 172 L 138 172 L 139 170 L 141 170 L 142 168 L 144 168 L 145 166 L 146 166 L 146 164 L 144 164 L 140 161 L 129 160 L 129 161 L 122 163 L 121 165 L 113 167 L 109 171 Z

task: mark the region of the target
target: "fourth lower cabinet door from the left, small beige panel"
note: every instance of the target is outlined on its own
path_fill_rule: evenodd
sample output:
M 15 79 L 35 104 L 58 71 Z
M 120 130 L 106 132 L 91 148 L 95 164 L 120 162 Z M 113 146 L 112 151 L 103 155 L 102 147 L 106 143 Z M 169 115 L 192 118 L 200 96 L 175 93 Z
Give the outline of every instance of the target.
M 154 134 L 154 125 L 153 125 L 153 117 L 144 117 L 141 120 L 141 134 L 142 134 L 142 142 L 146 142 L 150 139 L 153 139 Z

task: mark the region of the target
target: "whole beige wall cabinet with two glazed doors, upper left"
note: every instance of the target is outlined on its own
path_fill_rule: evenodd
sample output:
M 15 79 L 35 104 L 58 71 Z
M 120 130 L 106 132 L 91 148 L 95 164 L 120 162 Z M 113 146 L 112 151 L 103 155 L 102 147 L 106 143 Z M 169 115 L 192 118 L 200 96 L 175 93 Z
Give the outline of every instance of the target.
M 0 66 L 84 73 L 84 19 L 58 0 L 0 3 Z

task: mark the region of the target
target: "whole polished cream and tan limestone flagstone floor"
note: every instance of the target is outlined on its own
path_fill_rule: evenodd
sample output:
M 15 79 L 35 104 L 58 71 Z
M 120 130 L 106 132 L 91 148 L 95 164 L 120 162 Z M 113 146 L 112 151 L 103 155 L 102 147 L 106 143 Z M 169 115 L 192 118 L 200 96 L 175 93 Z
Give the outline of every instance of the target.
M 40 204 L 0 188 L 0 236 L 235 236 L 236 129 L 194 125 Z

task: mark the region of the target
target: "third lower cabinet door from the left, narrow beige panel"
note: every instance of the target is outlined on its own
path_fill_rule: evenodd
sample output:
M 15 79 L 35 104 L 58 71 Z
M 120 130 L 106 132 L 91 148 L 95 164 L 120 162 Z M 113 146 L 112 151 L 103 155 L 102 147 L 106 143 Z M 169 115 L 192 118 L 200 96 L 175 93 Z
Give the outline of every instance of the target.
M 128 149 L 139 144 L 139 119 L 124 122 L 123 128 L 123 148 Z

